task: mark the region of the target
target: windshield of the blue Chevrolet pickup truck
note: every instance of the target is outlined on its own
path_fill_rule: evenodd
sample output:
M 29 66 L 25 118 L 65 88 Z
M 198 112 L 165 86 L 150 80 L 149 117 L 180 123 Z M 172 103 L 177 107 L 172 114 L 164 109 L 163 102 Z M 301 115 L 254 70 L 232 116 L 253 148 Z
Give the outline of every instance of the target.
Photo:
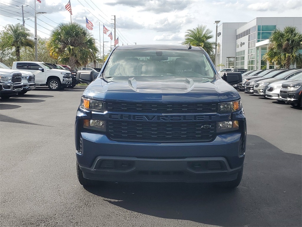
M 214 80 L 215 73 L 203 51 L 140 49 L 113 51 L 103 76 L 178 76 Z

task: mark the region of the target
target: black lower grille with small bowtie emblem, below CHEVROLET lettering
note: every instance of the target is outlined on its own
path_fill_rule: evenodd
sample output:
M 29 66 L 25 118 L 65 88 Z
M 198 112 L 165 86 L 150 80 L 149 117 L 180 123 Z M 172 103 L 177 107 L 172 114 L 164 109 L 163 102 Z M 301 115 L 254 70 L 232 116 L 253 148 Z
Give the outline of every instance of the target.
M 206 126 L 206 127 L 205 127 Z M 146 142 L 208 142 L 215 122 L 129 122 L 108 121 L 112 140 Z

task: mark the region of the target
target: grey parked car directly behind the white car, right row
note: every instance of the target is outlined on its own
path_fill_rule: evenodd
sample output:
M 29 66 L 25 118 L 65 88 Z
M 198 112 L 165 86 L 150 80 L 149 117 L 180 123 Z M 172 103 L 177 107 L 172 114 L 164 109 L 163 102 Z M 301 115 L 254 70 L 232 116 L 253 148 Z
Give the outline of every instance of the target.
M 298 71 L 300 71 L 300 70 L 301 69 L 299 69 Z M 258 96 L 265 96 L 266 95 L 265 92 L 268 88 L 268 84 L 276 82 L 276 81 L 280 81 L 280 80 L 288 80 L 292 76 L 294 76 L 295 72 L 297 72 L 297 70 L 288 69 L 288 70 L 285 70 L 285 71 L 275 75 L 272 78 L 258 81 L 254 86 L 254 94 L 258 95 Z

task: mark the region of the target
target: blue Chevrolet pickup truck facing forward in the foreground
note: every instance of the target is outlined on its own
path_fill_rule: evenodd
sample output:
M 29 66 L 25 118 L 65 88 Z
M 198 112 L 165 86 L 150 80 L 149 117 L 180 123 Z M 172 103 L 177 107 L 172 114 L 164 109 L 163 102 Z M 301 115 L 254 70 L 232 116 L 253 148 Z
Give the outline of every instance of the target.
M 241 181 L 246 117 L 231 84 L 201 47 L 119 46 L 90 83 L 76 113 L 77 174 L 82 185 L 115 182 Z

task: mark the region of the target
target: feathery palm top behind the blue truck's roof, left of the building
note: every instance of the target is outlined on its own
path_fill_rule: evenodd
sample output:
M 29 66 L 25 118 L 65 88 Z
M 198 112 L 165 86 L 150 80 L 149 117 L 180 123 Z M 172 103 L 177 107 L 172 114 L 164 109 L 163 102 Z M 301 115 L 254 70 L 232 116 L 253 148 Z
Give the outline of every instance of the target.
M 209 41 L 213 38 L 212 30 L 207 25 L 198 25 L 197 28 L 188 29 L 185 35 L 185 41 L 182 44 L 190 43 L 192 46 L 202 47 L 207 53 L 214 54 L 215 42 Z

